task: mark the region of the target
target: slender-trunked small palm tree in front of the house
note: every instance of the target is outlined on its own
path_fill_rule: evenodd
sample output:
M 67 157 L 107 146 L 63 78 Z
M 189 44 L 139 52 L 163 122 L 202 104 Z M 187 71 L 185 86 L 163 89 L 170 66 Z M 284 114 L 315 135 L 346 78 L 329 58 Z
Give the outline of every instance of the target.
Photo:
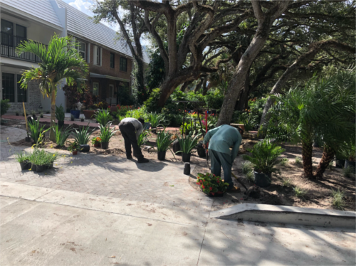
M 25 70 L 21 77 L 21 87 L 27 89 L 28 82 L 37 80 L 43 97 L 51 98 L 51 127 L 55 125 L 56 94 L 61 80 L 66 79 L 68 85 L 77 83 L 78 90 L 85 87 L 83 79 L 88 75 L 88 64 L 78 53 L 78 43 L 70 37 L 54 35 L 48 47 L 34 41 L 22 42 L 17 46 L 17 53 L 33 53 L 41 60 L 38 68 Z M 50 131 L 51 141 L 55 141 L 55 133 Z

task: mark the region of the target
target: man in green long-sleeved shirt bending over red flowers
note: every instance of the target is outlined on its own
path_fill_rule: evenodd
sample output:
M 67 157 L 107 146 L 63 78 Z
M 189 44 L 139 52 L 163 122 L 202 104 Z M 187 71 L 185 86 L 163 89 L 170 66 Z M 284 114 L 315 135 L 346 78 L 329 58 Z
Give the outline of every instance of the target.
M 234 182 L 231 178 L 231 168 L 232 163 L 239 152 L 241 140 L 242 137 L 239 130 L 227 124 L 209 130 L 204 137 L 204 149 L 206 143 L 209 142 L 211 173 L 215 176 L 221 176 L 222 166 L 224 170 L 224 181 L 229 183 L 227 191 L 230 192 L 238 191 L 238 188 L 234 186 Z M 230 151 L 230 147 L 233 147 L 232 151 Z

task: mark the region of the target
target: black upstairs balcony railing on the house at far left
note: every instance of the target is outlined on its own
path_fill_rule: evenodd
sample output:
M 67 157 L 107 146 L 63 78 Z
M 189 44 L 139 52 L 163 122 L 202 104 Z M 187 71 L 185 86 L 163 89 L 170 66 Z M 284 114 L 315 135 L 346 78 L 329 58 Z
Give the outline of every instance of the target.
M 33 53 L 23 53 L 20 56 L 16 54 L 16 46 L 18 46 L 23 41 L 28 40 L 19 36 L 12 36 L 0 31 L 0 56 L 40 63 L 40 58 L 38 58 L 38 56 L 34 55 Z

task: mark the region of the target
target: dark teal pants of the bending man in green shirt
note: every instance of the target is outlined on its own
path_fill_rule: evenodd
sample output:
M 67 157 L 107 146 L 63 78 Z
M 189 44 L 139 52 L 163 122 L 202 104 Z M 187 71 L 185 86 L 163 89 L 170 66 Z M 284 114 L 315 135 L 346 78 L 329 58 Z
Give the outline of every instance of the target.
M 219 151 L 214 151 L 209 149 L 209 156 L 211 159 L 211 173 L 215 176 L 221 176 L 221 166 L 224 170 L 224 182 L 229 183 L 228 188 L 234 187 L 234 182 L 231 178 L 231 168 L 232 168 L 232 161 L 230 154 L 223 154 Z

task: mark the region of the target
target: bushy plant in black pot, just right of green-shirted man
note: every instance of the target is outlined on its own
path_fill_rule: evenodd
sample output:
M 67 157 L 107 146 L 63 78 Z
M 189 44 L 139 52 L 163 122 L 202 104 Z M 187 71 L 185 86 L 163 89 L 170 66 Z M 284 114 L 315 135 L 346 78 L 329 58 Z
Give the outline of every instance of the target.
M 251 156 L 244 155 L 244 160 L 251 161 L 254 168 L 256 186 L 266 187 L 271 185 L 272 173 L 278 172 L 276 164 L 281 162 L 279 156 L 285 151 L 280 146 L 271 142 L 258 142 L 252 149 Z

